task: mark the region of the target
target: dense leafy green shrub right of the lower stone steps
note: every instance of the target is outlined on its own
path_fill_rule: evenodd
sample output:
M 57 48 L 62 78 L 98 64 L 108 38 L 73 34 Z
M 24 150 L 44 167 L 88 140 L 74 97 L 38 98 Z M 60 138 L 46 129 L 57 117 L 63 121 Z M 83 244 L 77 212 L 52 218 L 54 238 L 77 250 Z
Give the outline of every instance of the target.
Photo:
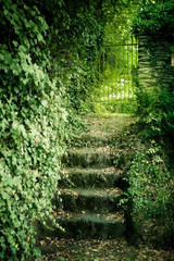
M 162 145 L 154 140 L 137 148 L 125 175 L 134 228 L 146 243 L 173 244 L 173 172 L 169 171 Z M 130 203 L 132 202 L 132 203 Z

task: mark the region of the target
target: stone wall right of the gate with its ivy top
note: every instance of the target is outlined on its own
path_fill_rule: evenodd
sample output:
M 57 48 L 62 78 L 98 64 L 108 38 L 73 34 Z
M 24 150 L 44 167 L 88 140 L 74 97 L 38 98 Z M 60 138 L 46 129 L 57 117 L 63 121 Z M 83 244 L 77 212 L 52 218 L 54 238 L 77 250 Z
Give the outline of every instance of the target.
M 138 76 L 145 87 L 167 87 L 173 82 L 173 0 L 142 5 L 134 20 L 133 32 L 139 39 Z

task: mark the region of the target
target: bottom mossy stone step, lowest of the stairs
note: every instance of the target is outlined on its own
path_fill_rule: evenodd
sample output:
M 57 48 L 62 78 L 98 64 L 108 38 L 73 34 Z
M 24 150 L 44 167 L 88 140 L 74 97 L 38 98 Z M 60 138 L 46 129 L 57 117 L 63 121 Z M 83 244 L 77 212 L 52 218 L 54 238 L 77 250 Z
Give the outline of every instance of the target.
M 108 239 L 125 236 L 125 221 L 120 213 L 104 215 L 88 212 L 57 212 L 55 220 L 64 231 L 53 224 L 51 229 L 39 224 L 38 233 L 40 233 L 41 237 Z

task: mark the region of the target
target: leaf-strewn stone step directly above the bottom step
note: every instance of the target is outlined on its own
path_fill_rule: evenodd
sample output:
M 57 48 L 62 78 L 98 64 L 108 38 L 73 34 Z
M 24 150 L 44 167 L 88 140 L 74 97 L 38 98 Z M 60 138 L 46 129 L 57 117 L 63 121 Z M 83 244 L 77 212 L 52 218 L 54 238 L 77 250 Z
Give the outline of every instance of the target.
M 119 210 L 121 198 L 123 198 L 123 191 L 120 188 L 61 189 L 55 203 L 58 208 L 62 206 L 65 211 L 88 210 L 96 213 L 110 213 Z

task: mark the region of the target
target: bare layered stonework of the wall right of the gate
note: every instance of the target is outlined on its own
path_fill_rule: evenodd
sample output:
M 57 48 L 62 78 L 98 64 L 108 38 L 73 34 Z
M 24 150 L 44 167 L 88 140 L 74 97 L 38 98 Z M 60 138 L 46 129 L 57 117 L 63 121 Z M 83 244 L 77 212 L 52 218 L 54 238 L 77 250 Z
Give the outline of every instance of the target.
M 171 66 L 171 46 L 174 46 L 174 36 L 139 35 L 138 77 L 139 83 L 151 88 L 171 85 L 174 77 L 174 67 Z

